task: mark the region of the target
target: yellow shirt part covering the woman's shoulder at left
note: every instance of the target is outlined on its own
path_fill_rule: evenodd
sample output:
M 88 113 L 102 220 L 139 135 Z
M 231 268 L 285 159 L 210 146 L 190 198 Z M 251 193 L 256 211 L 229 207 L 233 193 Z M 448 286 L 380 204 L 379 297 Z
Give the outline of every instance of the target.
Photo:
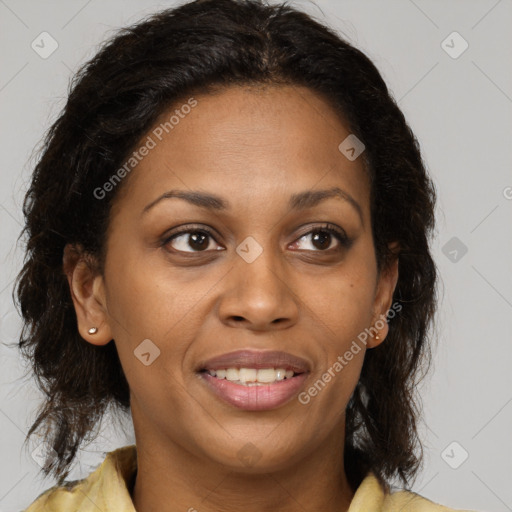
M 135 446 L 124 446 L 108 453 L 88 477 L 47 489 L 25 512 L 131 512 L 129 483 L 135 469 Z M 113 505 L 123 508 L 111 508 Z

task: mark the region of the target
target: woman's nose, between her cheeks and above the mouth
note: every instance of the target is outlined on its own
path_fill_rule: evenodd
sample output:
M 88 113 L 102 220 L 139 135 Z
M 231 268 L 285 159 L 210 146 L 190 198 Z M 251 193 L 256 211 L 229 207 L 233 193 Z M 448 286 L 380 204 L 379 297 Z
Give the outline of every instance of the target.
M 297 322 L 299 300 L 279 256 L 269 249 L 251 263 L 236 256 L 220 298 L 221 321 L 254 331 L 284 329 Z

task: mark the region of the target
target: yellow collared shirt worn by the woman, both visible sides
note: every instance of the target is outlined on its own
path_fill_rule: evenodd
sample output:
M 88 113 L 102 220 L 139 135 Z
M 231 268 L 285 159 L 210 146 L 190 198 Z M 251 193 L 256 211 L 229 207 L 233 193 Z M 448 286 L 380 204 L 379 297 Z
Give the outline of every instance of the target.
M 42 493 L 25 512 L 136 512 L 130 497 L 137 469 L 135 445 L 107 454 L 87 478 Z M 369 473 L 358 487 L 348 512 L 457 512 L 410 491 L 384 492 Z M 458 511 L 470 512 L 470 511 Z

